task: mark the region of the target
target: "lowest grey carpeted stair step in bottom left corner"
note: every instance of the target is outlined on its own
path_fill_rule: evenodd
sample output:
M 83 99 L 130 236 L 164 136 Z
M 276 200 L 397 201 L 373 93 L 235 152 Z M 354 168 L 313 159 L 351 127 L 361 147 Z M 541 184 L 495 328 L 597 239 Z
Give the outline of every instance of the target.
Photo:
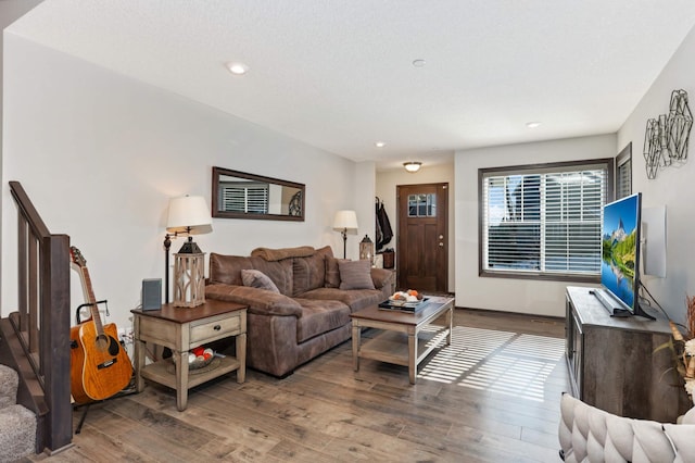
M 36 415 L 14 404 L 0 410 L 0 462 L 12 462 L 36 452 Z

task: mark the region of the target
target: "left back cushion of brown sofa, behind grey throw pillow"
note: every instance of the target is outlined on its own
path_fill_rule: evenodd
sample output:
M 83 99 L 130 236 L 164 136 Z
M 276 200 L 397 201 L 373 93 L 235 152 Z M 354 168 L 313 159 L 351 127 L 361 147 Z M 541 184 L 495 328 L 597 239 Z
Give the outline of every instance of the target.
M 292 295 L 292 260 L 269 262 L 262 258 L 243 258 L 210 253 L 210 283 L 242 286 L 242 270 L 257 270 L 267 275 L 280 293 Z

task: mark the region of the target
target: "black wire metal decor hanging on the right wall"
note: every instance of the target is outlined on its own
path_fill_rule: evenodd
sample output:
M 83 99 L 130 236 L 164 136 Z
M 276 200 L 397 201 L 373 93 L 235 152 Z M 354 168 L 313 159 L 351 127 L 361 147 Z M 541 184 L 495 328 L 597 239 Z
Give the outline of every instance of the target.
M 669 114 L 647 121 L 644 133 L 644 159 L 647 178 L 656 178 L 659 167 L 687 161 L 687 140 L 693 127 L 693 114 L 687 104 L 687 91 L 673 90 Z

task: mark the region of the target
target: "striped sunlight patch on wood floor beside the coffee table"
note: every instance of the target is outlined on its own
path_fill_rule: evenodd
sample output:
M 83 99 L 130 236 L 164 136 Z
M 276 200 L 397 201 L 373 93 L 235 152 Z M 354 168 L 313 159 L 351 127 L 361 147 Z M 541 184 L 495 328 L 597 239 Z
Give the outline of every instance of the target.
M 564 349 L 560 338 L 455 326 L 452 345 L 442 347 L 418 377 L 543 401 L 545 380 Z

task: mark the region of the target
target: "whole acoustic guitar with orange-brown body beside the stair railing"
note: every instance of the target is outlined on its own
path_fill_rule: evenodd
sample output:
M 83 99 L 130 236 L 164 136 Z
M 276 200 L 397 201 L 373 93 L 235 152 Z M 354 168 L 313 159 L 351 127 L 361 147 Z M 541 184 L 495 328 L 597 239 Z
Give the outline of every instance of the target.
M 74 246 L 70 249 L 73 262 L 79 267 L 90 317 L 70 331 L 71 392 L 77 403 L 103 400 L 123 390 L 132 376 L 128 354 L 118 342 L 116 325 L 102 325 L 87 261 Z

